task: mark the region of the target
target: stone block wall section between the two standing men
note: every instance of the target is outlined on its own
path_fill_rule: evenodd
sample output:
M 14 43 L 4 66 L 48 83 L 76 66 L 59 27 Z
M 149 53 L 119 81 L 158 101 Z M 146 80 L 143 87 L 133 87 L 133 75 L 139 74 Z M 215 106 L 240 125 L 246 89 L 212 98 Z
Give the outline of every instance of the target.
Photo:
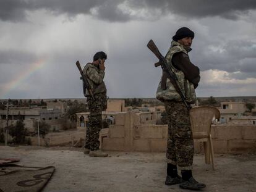
M 103 138 L 102 149 L 111 151 L 165 151 L 166 125 L 140 123 L 135 112 L 117 114 L 116 125 L 110 125 L 108 136 Z

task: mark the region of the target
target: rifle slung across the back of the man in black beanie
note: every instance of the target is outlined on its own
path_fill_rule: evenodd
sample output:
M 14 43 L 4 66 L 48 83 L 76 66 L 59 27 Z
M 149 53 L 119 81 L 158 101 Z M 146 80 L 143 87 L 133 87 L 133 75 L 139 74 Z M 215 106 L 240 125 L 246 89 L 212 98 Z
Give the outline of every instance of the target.
M 176 74 L 173 72 L 171 67 L 169 67 L 166 59 L 162 56 L 153 40 L 150 40 L 148 42 L 147 47 L 159 59 L 159 61 L 155 63 L 155 67 L 161 65 L 163 71 L 168 74 L 169 80 L 171 81 L 171 83 L 173 83 L 174 88 L 176 89 L 177 93 L 179 93 L 179 95 L 181 96 L 182 101 L 184 102 L 185 106 L 187 107 L 187 110 L 189 111 L 190 107 L 186 102 L 186 96 L 181 91 L 181 87 L 179 86 Z

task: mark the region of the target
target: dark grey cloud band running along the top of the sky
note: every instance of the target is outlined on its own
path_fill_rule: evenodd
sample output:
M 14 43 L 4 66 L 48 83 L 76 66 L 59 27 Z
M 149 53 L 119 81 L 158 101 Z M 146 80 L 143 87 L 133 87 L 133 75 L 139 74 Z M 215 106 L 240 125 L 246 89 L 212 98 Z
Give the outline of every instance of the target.
M 149 16 L 157 17 L 165 14 L 177 14 L 185 17 L 220 16 L 226 19 L 237 19 L 239 15 L 256 9 L 256 1 L 168 1 L 168 0 L 144 0 L 144 1 L 83 1 L 83 0 L 2 0 L 0 2 L 0 19 L 19 21 L 26 18 L 27 10 L 46 9 L 54 14 L 67 14 L 74 17 L 77 14 L 93 15 L 101 20 L 111 22 L 126 22 L 133 19 L 148 19 Z M 147 15 L 132 13 L 132 10 L 141 12 L 145 10 Z

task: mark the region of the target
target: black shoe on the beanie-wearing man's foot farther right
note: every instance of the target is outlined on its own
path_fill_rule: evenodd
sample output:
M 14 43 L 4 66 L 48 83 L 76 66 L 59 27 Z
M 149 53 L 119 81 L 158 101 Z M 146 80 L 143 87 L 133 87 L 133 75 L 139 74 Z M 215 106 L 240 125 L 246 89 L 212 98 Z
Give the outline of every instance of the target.
M 205 184 L 198 183 L 192 176 L 192 170 L 182 170 L 181 171 L 182 180 L 184 181 L 179 185 L 182 189 L 187 190 L 200 190 L 205 188 Z

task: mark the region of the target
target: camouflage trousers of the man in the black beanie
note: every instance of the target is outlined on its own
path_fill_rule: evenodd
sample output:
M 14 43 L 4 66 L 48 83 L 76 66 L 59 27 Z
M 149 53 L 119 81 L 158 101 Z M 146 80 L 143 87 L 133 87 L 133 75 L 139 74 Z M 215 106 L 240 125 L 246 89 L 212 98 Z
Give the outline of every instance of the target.
M 168 116 L 167 162 L 179 170 L 192 169 L 194 141 L 189 112 L 183 102 L 165 101 Z

